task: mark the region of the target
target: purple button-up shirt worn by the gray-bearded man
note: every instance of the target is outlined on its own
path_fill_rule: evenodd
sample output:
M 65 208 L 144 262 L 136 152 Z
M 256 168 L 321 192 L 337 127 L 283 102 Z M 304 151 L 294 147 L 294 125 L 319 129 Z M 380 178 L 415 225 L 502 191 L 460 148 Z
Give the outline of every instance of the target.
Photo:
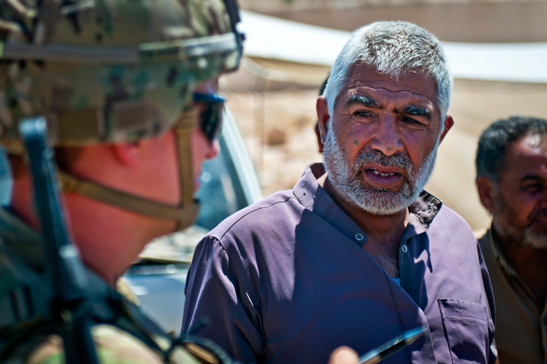
M 382 363 L 493 363 L 488 273 L 468 224 L 441 205 L 422 192 L 410 208 L 398 285 L 307 168 L 293 190 L 230 216 L 200 242 L 183 333 L 245 363 L 326 363 L 341 345 L 362 355 L 425 326 Z

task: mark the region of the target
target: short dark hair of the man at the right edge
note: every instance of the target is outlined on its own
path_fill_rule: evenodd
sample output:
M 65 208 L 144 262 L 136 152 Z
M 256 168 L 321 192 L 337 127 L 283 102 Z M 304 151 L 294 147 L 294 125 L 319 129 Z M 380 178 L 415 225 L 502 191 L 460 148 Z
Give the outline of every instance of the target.
M 497 185 L 507 148 L 516 140 L 530 135 L 547 139 L 547 120 L 511 116 L 487 127 L 479 139 L 475 158 L 477 178 L 486 177 Z

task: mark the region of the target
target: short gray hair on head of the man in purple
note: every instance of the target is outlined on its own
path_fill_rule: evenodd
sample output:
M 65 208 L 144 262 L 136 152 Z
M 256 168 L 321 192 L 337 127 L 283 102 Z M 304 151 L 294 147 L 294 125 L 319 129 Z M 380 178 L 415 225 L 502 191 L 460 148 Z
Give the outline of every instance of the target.
M 330 115 L 356 63 L 374 66 L 395 78 L 409 71 L 433 78 L 437 83 L 441 122 L 445 119 L 452 94 L 452 76 L 441 43 L 432 33 L 405 21 L 379 21 L 354 31 L 336 58 L 323 92 Z

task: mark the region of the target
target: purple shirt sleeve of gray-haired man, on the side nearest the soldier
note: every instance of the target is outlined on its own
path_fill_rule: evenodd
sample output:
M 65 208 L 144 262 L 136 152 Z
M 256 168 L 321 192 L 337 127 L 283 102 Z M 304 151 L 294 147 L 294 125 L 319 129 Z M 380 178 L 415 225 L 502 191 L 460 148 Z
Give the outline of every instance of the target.
M 211 339 L 232 359 L 255 363 L 264 350 L 260 315 L 245 287 L 247 263 L 234 255 L 231 259 L 215 237 L 197 245 L 187 277 L 182 333 Z

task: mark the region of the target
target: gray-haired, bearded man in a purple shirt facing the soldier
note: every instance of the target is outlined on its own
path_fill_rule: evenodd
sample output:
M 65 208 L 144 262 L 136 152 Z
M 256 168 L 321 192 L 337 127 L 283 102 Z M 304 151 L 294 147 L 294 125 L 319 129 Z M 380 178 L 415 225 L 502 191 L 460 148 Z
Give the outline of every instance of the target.
M 477 241 L 423 191 L 453 125 L 451 87 L 441 45 L 422 28 L 376 22 L 354 32 L 317 101 L 324 169 L 312 165 L 293 190 L 202 240 L 183 331 L 246 363 L 321 363 L 340 345 L 364 354 L 423 326 L 385 362 L 493 362 Z

